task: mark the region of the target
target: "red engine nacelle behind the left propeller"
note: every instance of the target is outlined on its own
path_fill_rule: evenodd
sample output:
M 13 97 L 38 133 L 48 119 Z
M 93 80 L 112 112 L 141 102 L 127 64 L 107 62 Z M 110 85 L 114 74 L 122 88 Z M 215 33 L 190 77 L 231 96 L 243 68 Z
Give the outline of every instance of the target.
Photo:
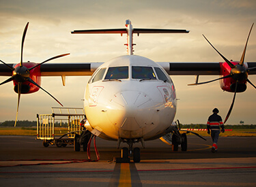
M 14 68 L 18 67 L 20 64 L 16 64 Z M 27 69 L 34 67 L 35 65 L 38 65 L 37 63 L 23 63 L 23 66 L 27 67 Z M 36 82 L 39 86 L 41 86 L 41 72 L 40 72 L 40 66 L 35 67 L 34 69 L 31 69 L 29 71 L 29 78 Z M 14 91 L 18 93 L 18 82 L 16 80 L 14 82 Z M 22 94 L 29 94 L 33 92 L 37 92 L 40 88 L 38 86 L 35 86 L 34 84 L 31 84 L 31 82 L 25 81 L 22 83 L 21 86 L 21 93 Z

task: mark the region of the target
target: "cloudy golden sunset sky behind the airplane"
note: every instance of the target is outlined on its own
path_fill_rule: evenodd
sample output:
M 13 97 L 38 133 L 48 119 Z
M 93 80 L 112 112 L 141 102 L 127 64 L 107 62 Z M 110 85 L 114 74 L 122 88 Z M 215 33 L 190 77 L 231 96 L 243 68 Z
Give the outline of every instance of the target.
M 58 54 L 70 53 L 48 63 L 106 62 L 126 54 L 126 36 L 72 35 L 79 29 L 124 28 L 130 19 L 134 28 L 186 29 L 189 34 L 134 35 L 134 54 L 156 62 L 222 62 L 207 41 L 229 60 L 240 61 L 248 31 L 256 21 L 256 1 L 208 0 L 0 0 L 0 59 L 19 63 L 20 45 L 27 22 L 23 61 L 41 63 Z M 248 41 L 245 62 L 256 62 L 256 28 Z M 194 76 L 171 76 L 179 99 L 175 120 L 182 124 L 205 124 L 218 107 L 223 120 L 233 93 L 223 92 L 218 81 L 187 86 Z M 200 81 L 218 76 L 199 77 Z M 0 77 L 0 82 L 8 77 Z M 256 75 L 249 75 L 256 84 Z M 42 77 L 42 88 L 51 92 L 65 107 L 83 107 L 89 77 Z M 238 93 L 226 124 L 256 124 L 256 90 L 248 84 Z M 18 95 L 12 82 L 0 86 L 0 122 L 15 120 Z M 21 95 L 18 120 L 36 120 L 36 114 L 51 114 L 58 103 L 44 91 Z

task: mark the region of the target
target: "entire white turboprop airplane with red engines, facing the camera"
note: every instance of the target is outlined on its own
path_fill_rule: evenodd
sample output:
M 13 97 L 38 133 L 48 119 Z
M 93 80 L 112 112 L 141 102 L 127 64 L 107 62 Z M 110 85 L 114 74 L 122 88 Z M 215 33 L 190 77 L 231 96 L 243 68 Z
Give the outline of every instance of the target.
M 72 34 L 121 34 L 127 35 L 127 55 L 117 56 L 106 63 L 48 63 L 55 58 L 66 56 L 61 54 L 49 58 L 42 63 L 23 62 L 23 45 L 29 22 L 23 32 L 20 63 L 7 64 L 1 61 L 0 75 L 11 76 L 0 85 L 13 81 L 14 91 L 20 95 L 37 92 L 41 86 L 42 76 L 61 76 L 63 85 L 66 76 L 91 75 L 86 86 L 84 109 L 87 117 L 85 127 L 89 133 L 102 139 L 127 143 L 128 148 L 122 148 L 122 158 L 133 157 L 134 163 L 141 160 L 140 148 L 133 148 L 134 143 L 164 137 L 172 141 L 173 150 L 181 145 L 187 149 L 186 133 L 180 133 L 179 124 L 173 122 L 177 111 L 175 86 L 170 75 L 195 75 L 195 84 L 199 85 L 221 80 L 221 88 L 234 92 L 233 101 L 225 122 L 231 114 L 236 92 L 244 92 L 248 82 L 248 74 L 256 73 L 256 63 L 244 63 L 246 46 L 240 61 L 228 61 L 208 39 L 205 39 L 225 60 L 224 63 L 171 63 L 154 62 L 149 58 L 134 54 L 133 35 L 144 33 L 189 33 L 185 29 L 136 29 L 131 21 L 126 20 L 124 29 L 91 29 L 75 30 Z M 220 78 L 199 83 L 199 75 L 219 75 Z M 53 95 L 44 90 L 57 103 L 62 105 Z M 178 122 L 179 123 L 179 122 Z M 16 122 L 15 122 L 16 124 Z M 197 135 L 197 133 L 194 133 Z M 172 136 L 171 136 L 172 135 Z M 199 136 L 200 137 L 200 136 Z M 201 137 L 203 138 L 203 137 Z

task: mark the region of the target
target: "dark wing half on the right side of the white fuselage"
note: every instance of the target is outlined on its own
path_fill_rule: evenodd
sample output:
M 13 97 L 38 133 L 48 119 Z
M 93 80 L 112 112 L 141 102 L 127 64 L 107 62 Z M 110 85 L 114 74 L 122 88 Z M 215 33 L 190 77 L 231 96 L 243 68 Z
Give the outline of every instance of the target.
M 221 63 L 158 63 L 169 75 L 221 75 Z M 245 63 L 250 75 L 256 74 L 256 63 Z

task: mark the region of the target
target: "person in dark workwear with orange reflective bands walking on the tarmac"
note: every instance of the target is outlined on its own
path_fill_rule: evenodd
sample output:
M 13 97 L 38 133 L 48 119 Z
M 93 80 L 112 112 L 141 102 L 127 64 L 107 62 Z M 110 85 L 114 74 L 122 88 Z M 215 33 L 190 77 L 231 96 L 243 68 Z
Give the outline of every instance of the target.
M 222 133 L 225 132 L 223 120 L 221 116 L 218 115 L 218 109 L 214 108 L 212 110 L 213 114 L 209 116 L 207 122 L 208 134 L 212 137 L 212 152 L 216 152 L 218 150 L 218 135 L 220 134 L 220 130 Z

